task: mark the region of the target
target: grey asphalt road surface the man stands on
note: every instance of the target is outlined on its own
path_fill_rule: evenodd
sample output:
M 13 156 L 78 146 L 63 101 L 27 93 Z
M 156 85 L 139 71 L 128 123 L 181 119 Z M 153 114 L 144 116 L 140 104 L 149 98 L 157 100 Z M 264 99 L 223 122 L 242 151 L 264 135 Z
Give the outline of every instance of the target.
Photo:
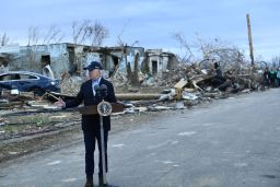
M 113 133 L 108 183 L 120 187 L 280 186 L 279 96 L 280 89 L 270 89 L 220 100 Z M 0 170 L 1 187 L 79 187 L 84 182 L 82 141 L 21 157 Z

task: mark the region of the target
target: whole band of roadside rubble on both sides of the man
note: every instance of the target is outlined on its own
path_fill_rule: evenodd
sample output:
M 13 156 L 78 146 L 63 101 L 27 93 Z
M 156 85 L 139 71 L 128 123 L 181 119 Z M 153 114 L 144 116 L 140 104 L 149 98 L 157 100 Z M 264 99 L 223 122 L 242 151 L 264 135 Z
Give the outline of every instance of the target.
M 222 77 L 218 77 L 213 65 L 200 66 L 199 63 L 180 65 L 171 69 L 162 77 L 141 74 L 141 85 L 133 87 L 124 83 L 122 77 L 115 77 L 112 81 L 118 92 L 116 96 L 125 105 L 125 110 L 114 113 L 113 116 L 150 114 L 147 112 L 163 112 L 171 109 L 189 108 L 200 103 L 211 102 L 217 98 L 229 97 L 231 94 L 259 91 L 264 89 L 262 73 L 255 67 L 226 66 L 222 69 Z M 118 78 L 121 78 L 119 81 Z M 32 93 L 7 95 L 0 101 L 0 139 L 15 136 L 27 136 L 65 129 L 80 122 L 77 110 L 63 110 L 54 106 L 57 97 L 73 98 L 83 82 L 81 77 L 67 77 L 61 81 L 61 94 L 44 94 L 35 97 Z M 115 84 L 115 82 L 122 82 Z M 124 87 L 126 89 L 119 89 Z M 129 89 L 127 89 L 129 87 Z M 51 97 L 54 101 L 47 98 Z M 61 113 L 61 114 L 59 114 Z M 67 114 L 65 114 L 67 113 Z M 56 118 L 55 115 L 57 115 Z M 15 118 L 14 116 L 22 116 Z M 68 120 L 65 120 L 65 116 Z M 52 116 L 52 118 L 50 117 Z M 26 118 L 23 124 L 23 118 Z M 12 121 L 11 119 L 15 120 Z M 56 120 L 54 120 L 56 119 Z

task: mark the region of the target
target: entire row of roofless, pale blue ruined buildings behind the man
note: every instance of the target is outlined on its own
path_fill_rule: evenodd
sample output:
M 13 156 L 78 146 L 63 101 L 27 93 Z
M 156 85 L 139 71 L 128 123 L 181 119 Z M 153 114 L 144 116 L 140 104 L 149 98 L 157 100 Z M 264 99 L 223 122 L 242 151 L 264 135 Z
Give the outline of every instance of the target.
M 92 48 L 69 43 L 0 47 L 0 63 L 5 71 L 32 70 L 49 77 L 54 74 L 56 79 L 61 79 L 67 73 L 83 77 L 86 73 L 83 67 L 93 60 L 103 63 L 107 78 L 115 78 L 117 74 L 128 77 L 129 72 L 140 70 L 161 78 L 163 72 L 178 63 L 172 52 L 162 49 L 144 50 L 143 47 Z

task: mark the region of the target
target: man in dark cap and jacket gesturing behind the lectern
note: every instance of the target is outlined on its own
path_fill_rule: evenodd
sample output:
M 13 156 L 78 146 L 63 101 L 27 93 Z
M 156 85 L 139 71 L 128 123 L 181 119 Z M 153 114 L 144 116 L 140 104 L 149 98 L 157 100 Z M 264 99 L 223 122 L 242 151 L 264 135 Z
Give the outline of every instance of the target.
M 101 96 L 96 92 L 98 90 L 96 87 L 107 87 L 107 94 L 104 100 L 109 103 L 116 103 L 116 96 L 114 92 L 113 84 L 102 78 L 102 65 L 97 61 L 92 61 L 85 70 L 89 70 L 90 80 L 85 81 L 81 87 L 80 92 L 75 96 L 74 100 L 63 102 L 59 100 L 55 103 L 56 106 L 60 106 L 62 108 L 71 108 L 77 107 L 83 103 L 84 106 L 97 105 L 101 102 Z M 110 118 L 109 116 L 103 117 L 103 126 L 104 126 L 104 144 L 105 144 L 105 170 L 108 172 L 107 166 L 107 140 L 108 140 L 108 131 L 110 130 Z M 93 174 L 94 174 L 94 150 L 95 150 L 95 140 L 97 140 L 98 152 L 100 152 L 100 162 L 98 162 L 98 179 L 100 185 L 103 185 L 103 168 L 102 168 L 102 145 L 101 145 L 101 122 L 100 115 L 82 115 L 82 130 L 84 137 L 84 145 L 85 145 L 85 174 L 86 174 L 86 183 L 85 187 L 92 187 L 93 184 Z

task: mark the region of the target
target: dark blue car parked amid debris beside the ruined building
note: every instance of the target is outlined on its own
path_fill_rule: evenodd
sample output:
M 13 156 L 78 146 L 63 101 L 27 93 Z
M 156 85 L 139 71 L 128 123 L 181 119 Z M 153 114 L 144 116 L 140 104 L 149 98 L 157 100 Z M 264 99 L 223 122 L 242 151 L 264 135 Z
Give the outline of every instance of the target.
M 57 79 L 35 72 L 10 71 L 0 74 L 0 89 L 44 94 L 47 91 L 60 92 L 60 83 Z

